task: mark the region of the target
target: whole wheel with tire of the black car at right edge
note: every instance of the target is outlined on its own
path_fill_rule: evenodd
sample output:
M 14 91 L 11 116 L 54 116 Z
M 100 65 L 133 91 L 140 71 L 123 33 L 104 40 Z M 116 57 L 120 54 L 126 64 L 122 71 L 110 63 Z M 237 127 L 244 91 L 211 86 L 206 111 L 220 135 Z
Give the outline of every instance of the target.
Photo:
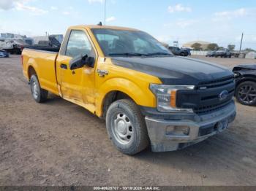
M 246 106 L 256 105 L 256 82 L 241 82 L 236 87 L 236 100 Z

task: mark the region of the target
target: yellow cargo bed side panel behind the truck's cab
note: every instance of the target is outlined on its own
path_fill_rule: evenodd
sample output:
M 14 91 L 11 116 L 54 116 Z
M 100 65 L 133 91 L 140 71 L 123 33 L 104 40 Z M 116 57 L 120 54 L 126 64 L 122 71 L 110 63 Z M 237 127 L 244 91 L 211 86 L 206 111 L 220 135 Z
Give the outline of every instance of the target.
M 56 81 L 56 58 L 58 52 L 45 50 L 24 49 L 23 74 L 30 79 L 34 69 L 41 87 L 59 95 Z M 33 68 L 32 68 L 33 66 Z

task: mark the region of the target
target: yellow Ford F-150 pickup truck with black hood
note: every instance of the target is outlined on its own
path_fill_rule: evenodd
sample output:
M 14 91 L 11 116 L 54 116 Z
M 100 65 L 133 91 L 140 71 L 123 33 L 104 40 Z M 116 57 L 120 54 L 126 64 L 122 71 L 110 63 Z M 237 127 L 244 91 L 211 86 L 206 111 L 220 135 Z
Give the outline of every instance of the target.
M 25 49 L 23 74 L 34 100 L 48 92 L 105 119 L 118 150 L 135 155 L 182 149 L 222 130 L 236 116 L 233 73 L 174 56 L 143 31 L 73 26 L 59 52 Z

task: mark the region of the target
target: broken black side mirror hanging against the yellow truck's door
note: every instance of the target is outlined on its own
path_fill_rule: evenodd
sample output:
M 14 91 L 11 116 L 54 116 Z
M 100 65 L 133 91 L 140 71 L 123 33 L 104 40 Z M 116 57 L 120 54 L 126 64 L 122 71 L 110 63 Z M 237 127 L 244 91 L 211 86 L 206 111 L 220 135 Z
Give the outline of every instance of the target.
M 85 55 L 85 56 L 78 55 L 69 61 L 70 70 L 80 69 L 80 68 L 83 68 L 83 66 L 93 67 L 94 58 L 88 57 L 88 55 Z

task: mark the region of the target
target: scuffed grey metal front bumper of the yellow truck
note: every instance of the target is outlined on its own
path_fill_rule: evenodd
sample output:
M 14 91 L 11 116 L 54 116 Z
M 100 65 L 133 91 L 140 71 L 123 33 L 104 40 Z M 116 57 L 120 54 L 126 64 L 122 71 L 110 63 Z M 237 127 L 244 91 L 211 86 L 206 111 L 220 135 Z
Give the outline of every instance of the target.
M 178 115 L 178 114 L 177 114 Z M 232 101 L 225 108 L 209 114 L 196 115 L 192 119 L 165 120 L 145 117 L 151 149 L 154 152 L 165 152 L 182 149 L 191 144 L 203 141 L 209 136 L 222 132 L 236 117 L 236 105 Z M 193 120 L 194 119 L 194 120 Z M 187 133 L 176 134 L 170 129 L 188 128 Z

